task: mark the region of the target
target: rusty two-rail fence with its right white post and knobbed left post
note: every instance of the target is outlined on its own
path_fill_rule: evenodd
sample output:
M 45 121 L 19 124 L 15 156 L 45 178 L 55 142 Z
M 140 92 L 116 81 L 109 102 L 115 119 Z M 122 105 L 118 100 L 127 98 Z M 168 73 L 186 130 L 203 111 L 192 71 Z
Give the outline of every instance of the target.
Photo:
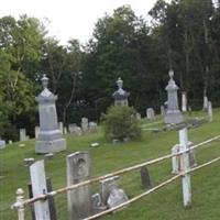
M 209 166 L 209 165 L 211 165 L 211 164 L 220 161 L 220 157 L 217 157 L 217 158 L 215 158 L 215 160 L 212 160 L 210 162 L 207 162 L 207 163 L 201 164 L 199 166 L 189 168 L 187 166 L 188 162 L 186 161 L 189 151 L 198 148 L 198 147 L 200 147 L 202 145 L 209 144 L 209 143 L 211 143 L 213 141 L 220 140 L 220 135 L 211 138 L 211 139 L 209 139 L 207 141 L 204 141 L 204 142 L 201 142 L 199 144 L 193 145 L 190 148 L 188 148 L 187 147 L 187 143 L 188 143 L 187 130 L 183 129 L 183 130 L 179 131 L 179 140 L 180 140 L 179 141 L 180 145 L 185 145 L 186 147 L 182 147 L 180 152 L 178 152 L 178 153 L 167 154 L 167 155 L 161 156 L 161 157 L 155 158 L 155 160 L 151 160 L 151 161 L 147 161 L 147 162 L 144 162 L 144 163 L 141 163 L 141 164 L 138 164 L 138 165 L 134 165 L 134 166 L 131 166 L 131 167 L 128 167 L 128 168 L 123 168 L 123 169 L 120 169 L 120 170 L 117 170 L 117 172 L 113 172 L 113 173 L 110 173 L 110 174 L 107 174 L 107 175 L 103 175 L 103 176 L 99 176 L 99 177 L 95 177 L 95 178 L 91 178 L 91 179 L 86 180 L 86 182 L 81 182 L 79 184 L 74 184 L 74 185 L 70 185 L 68 187 L 59 188 L 57 190 L 53 190 L 53 191 L 47 193 L 47 194 L 42 194 L 42 195 L 38 195 L 38 196 L 34 197 L 34 198 L 26 199 L 26 200 L 23 199 L 23 197 L 21 196 L 22 195 L 21 190 L 20 190 L 20 194 L 18 194 L 19 196 L 16 197 L 18 200 L 16 200 L 16 202 L 14 205 L 12 205 L 12 208 L 16 208 L 18 209 L 18 213 L 20 216 L 19 220 L 20 219 L 23 220 L 24 217 L 22 216 L 22 212 L 24 212 L 24 206 L 26 206 L 26 205 L 36 202 L 38 200 L 45 200 L 48 197 L 53 197 L 53 196 L 56 196 L 58 194 L 64 194 L 64 193 L 67 193 L 69 190 L 73 190 L 73 189 L 77 189 L 77 188 L 79 188 L 81 186 L 87 186 L 87 185 L 90 185 L 90 184 L 103 180 L 106 178 L 110 178 L 110 177 L 113 177 L 113 176 L 123 175 L 123 174 L 129 173 L 131 170 L 139 169 L 139 168 L 141 168 L 143 166 L 150 166 L 150 165 L 163 162 L 165 160 L 172 158 L 174 156 L 180 156 L 182 157 L 182 160 L 180 160 L 182 161 L 182 170 L 179 172 L 179 174 L 175 175 L 174 177 L 165 180 L 164 183 L 162 183 L 162 184 L 160 184 L 160 185 L 151 188 L 150 190 L 147 190 L 147 191 L 145 191 L 145 193 L 143 193 L 143 194 L 141 194 L 141 195 L 139 195 L 139 196 L 136 196 L 136 197 L 134 197 L 134 198 L 132 198 L 132 199 L 130 199 L 130 200 L 128 200 L 128 201 L 125 201 L 125 202 L 117 206 L 117 207 L 113 207 L 111 209 L 105 210 L 105 211 L 102 211 L 100 213 L 97 213 L 95 216 L 85 218 L 84 220 L 96 219 L 98 217 L 101 217 L 101 216 L 105 216 L 105 215 L 110 213 L 112 211 L 116 211 L 116 210 L 118 210 L 118 209 L 120 209 L 120 208 L 122 208 L 124 206 L 128 206 L 128 205 L 130 205 L 130 204 L 132 204 L 132 202 L 134 202 L 134 201 L 136 201 L 136 200 L 139 200 L 141 198 L 143 198 L 146 195 L 150 195 L 153 191 L 156 191 L 157 189 L 166 186 L 167 184 L 173 183 L 174 180 L 178 179 L 179 177 L 183 177 L 183 193 L 184 193 L 184 198 L 185 198 L 186 195 L 190 194 L 190 176 L 189 176 L 189 174 L 193 173 L 193 172 L 195 172 L 195 170 L 197 170 L 197 169 L 204 168 L 206 166 Z M 187 198 L 187 199 L 190 200 L 190 198 Z

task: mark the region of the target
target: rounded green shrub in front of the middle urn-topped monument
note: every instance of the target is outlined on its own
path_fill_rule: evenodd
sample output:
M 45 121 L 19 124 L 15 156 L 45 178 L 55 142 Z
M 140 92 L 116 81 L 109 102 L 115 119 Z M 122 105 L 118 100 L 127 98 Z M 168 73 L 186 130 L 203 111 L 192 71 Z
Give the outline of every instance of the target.
M 107 139 L 139 139 L 141 138 L 141 128 L 136 119 L 136 111 L 128 106 L 112 106 L 107 114 L 102 116 L 105 135 Z

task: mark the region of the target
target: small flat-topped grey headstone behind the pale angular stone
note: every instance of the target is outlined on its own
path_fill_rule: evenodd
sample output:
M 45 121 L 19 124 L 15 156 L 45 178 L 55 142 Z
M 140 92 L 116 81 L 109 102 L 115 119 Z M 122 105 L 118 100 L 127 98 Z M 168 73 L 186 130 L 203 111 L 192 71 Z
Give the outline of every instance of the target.
M 112 176 L 100 180 L 101 202 L 107 206 L 111 190 L 119 188 L 119 176 Z

